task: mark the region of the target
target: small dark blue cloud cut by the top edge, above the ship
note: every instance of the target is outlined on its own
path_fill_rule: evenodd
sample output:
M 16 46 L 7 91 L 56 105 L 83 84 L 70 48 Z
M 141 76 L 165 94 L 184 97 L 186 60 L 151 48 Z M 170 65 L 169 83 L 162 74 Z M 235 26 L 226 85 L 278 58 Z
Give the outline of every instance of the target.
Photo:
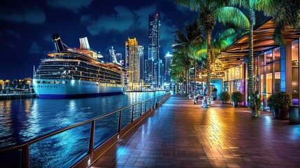
M 49 6 L 53 8 L 65 8 L 78 13 L 81 8 L 87 8 L 93 0 L 47 0 Z

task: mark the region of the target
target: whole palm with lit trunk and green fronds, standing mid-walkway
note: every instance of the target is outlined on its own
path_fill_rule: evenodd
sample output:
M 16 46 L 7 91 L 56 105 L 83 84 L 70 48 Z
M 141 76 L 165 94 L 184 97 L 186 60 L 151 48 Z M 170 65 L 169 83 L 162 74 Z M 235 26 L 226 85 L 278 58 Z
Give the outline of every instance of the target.
M 210 51 L 211 51 L 211 34 L 215 27 L 216 20 L 221 23 L 231 22 L 243 29 L 248 29 L 250 24 L 247 17 L 238 8 L 226 6 L 229 0 L 175 0 L 176 3 L 186 6 L 191 10 L 199 12 L 200 25 L 204 26 L 206 31 L 207 43 L 207 82 L 208 101 L 206 107 L 210 104 Z

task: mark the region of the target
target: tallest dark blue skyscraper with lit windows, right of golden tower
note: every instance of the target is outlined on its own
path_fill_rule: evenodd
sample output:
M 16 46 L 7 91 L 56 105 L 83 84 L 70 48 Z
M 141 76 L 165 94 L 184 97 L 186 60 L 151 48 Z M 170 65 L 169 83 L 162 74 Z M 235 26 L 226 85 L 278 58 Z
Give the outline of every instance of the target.
M 149 46 L 148 59 L 152 60 L 152 87 L 160 87 L 162 85 L 159 80 L 159 48 L 160 48 L 160 21 L 159 15 L 149 15 Z

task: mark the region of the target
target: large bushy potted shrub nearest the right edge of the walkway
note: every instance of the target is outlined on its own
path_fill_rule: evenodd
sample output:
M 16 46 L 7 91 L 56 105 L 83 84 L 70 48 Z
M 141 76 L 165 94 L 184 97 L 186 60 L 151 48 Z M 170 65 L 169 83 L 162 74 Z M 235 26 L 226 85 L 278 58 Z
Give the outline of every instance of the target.
M 275 118 L 285 120 L 289 108 L 292 106 L 292 97 L 287 92 L 276 92 L 269 97 L 268 105 Z

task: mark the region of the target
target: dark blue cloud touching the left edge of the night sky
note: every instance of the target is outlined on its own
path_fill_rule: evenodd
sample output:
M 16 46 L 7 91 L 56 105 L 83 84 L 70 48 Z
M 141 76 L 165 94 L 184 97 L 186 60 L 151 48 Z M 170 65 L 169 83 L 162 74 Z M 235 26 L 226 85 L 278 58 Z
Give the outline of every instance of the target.
M 38 6 L 27 6 L 10 10 L 0 8 L 0 20 L 10 22 L 27 22 L 31 24 L 43 24 L 45 22 L 45 13 Z

